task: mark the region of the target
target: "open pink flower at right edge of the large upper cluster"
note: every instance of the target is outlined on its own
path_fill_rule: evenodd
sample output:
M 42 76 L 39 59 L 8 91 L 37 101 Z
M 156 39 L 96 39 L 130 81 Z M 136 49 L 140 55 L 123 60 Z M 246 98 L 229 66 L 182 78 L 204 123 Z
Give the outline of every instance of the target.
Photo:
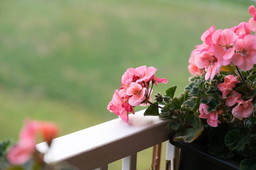
M 242 70 L 250 70 L 256 63 L 256 37 L 246 35 L 243 39 L 237 39 L 234 43 L 237 53 L 234 54 L 232 62 Z

